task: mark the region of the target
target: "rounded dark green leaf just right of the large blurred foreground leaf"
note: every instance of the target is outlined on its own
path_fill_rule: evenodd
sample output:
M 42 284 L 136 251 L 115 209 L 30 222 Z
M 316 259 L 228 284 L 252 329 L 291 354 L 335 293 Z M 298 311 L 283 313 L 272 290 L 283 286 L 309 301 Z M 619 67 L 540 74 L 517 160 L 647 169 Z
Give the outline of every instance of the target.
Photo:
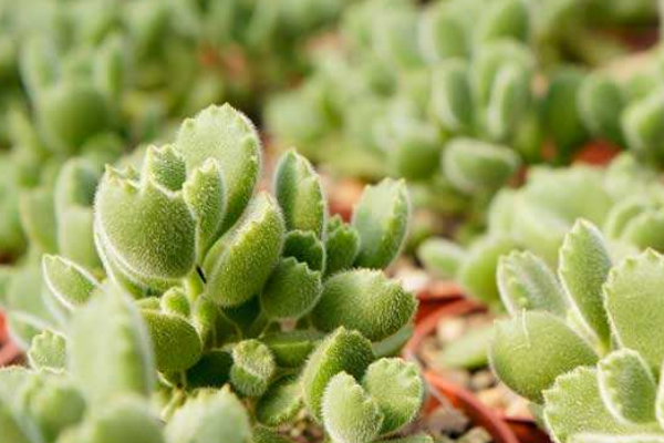
M 153 344 L 157 369 L 162 372 L 185 371 L 203 352 L 196 328 L 178 315 L 154 310 L 142 312 Z

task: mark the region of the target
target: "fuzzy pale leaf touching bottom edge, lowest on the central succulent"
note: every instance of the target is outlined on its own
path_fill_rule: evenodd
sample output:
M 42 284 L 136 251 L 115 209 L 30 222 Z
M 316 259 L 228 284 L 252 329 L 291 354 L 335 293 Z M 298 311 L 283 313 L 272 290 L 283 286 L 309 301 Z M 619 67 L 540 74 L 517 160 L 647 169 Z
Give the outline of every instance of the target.
M 384 415 L 378 403 L 352 375 L 334 375 L 323 396 L 323 425 L 334 442 L 367 443 L 377 437 Z

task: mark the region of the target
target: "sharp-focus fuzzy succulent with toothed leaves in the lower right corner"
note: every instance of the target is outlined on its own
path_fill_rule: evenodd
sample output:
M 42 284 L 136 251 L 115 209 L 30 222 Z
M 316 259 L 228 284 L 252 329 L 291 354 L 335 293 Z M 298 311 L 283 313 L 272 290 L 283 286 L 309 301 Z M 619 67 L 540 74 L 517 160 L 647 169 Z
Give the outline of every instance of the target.
M 558 443 L 663 441 L 664 256 L 621 257 L 587 220 L 559 255 L 557 272 L 531 253 L 500 260 L 511 318 L 496 323 L 494 371 Z

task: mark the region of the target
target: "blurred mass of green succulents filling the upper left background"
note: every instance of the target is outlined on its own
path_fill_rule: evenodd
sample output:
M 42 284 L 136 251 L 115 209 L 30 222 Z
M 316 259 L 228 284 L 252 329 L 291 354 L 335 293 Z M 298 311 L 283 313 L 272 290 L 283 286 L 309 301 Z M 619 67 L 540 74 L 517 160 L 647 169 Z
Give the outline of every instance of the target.
M 263 94 L 303 72 L 300 47 L 345 4 L 3 1 L 0 256 L 15 259 L 35 248 L 21 223 L 23 194 L 52 189 L 66 158 L 103 166 L 224 97 L 257 107 Z

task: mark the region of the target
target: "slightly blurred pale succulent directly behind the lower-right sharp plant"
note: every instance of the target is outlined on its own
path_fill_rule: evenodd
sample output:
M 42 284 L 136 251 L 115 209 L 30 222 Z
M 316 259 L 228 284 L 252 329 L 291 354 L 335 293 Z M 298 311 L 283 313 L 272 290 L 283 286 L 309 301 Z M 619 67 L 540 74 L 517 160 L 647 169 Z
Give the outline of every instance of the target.
M 578 218 L 598 226 L 616 251 L 664 251 L 663 187 L 654 169 L 623 153 L 605 168 L 578 164 L 533 167 L 523 186 L 491 202 L 487 231 L 463 245 L 430 238 L 417 256 L 439 278 L 455 279 L 468 296 L 501 310 L 496 269 L 502 255 L 529 250 L 549 265 Z

